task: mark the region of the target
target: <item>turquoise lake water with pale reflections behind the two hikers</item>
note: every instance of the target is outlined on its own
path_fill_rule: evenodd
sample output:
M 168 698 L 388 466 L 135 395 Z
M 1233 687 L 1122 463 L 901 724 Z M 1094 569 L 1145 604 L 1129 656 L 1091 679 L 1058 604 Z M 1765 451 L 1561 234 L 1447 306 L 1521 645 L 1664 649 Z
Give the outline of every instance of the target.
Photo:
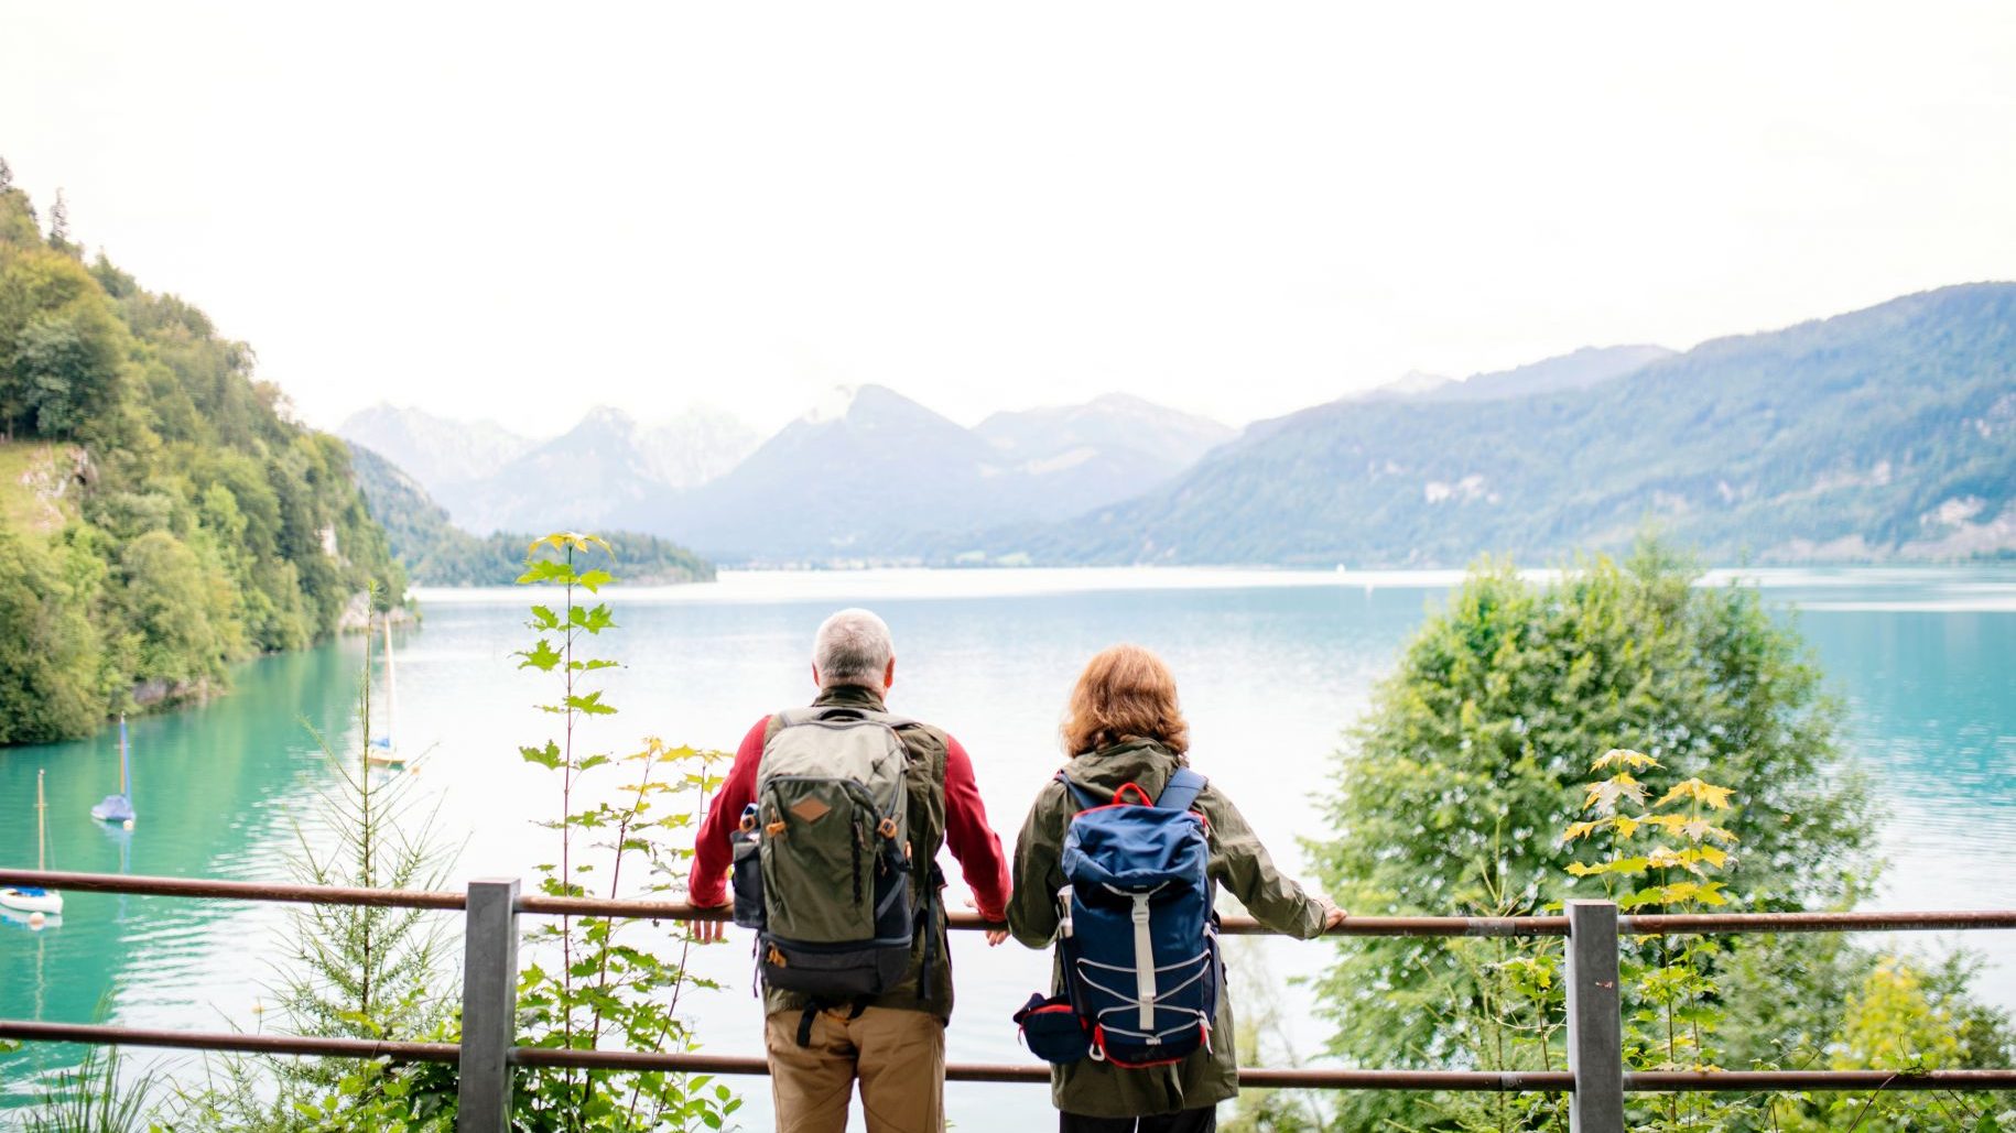
M 1883 907 L 2016 907 L 2016 571 L 1760 571 L 1768 599 L 1798 611 L 1851 712 L 1851 748 L 1891 802 Z M 591 742 L 639 736 L 732 748 L 774 708 L 810 696 L 806 651 L 818 619 L 871 605 L 897 637 L 891 708 L 937 722 L 974 754 L 996 829 L 1012 841 L 1032 792 L 1058 766 L 1056 722 L 1083 661 L 1141 641 L 1175 669 L 1198 766 L 1300 871 L 1298 837 L 1316 819 L 1339 730 L 1423 613 L 1456 581 L 1443 573 L 1298 575 L 1252 571 L 875 571 L 730 573 L 720 583 L 611 591 L 627 667 L 607 700 L 621 714 Z M 548 689 L 520 673 L 516 591 L 423 593 L 425 621 L 397 635 L 399 746 L 425 750 L 417 784 L 442 802 L 442 833 L 464 843 L 454 877 L 526 873 L 548 861 L 530 819 L 554 810 L 554 780 L 520 762 L 544 738 L 530 706 Z M 351 708 L 363 643 L 268 657 L 240 669 L 208 708 L 131 724 L 135 831 L 89 808 L 117 782 L 117 738 L 0 752 L 0 861 L 34 863 L 34 774 L 48 770 L 56 869 L 284 879 L 292 823 L 329 774 L 308 728 L 355 750 Z M 609 778 L 617 782 L 615 776 Z M 958 899 L 958 871 L 954 899 Z M 282 954 L 278 907 L 73 893 L 60 927 L 0 923 L 0 1016 L 131 1026 L 260 1026 L 260 982 Z M 2016 1006 L 2016 939 L 1976 933 L 1988 992 Z M 1331 946 L 1268 941 L 1274 976 L 1322 966 Z M 1347 943 L 1349 948 L 1349 943 Z M 988 952 L 956 933 L 960 1008 L 954 1060 L 1024 1060 L 1008 1014 L 1044 984 L 1048 962 Z M 746 937 L 704 950 L 698 968 L 728 990 L 694 1000 L 710 1048 L 758 1052 Z M 266 996 L 270 998 L 270 996 Z M 1312 1048 L 1320 1028 L 1294 1028 Z M 75 1062 L 73 1048 L 0 1056 L 0 1101 Z M 768 1127 L 768 1087 L 744 1125 Z M 960 1129 L 1050 1121 L 1046 1091 L 956 1085 Z

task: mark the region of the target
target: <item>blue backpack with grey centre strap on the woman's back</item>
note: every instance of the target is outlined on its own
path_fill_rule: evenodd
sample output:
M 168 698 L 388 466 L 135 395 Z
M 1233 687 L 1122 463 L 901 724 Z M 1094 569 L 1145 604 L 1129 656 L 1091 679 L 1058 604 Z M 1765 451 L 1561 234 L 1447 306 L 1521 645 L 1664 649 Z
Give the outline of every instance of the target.
M 1111 802 L 1056 778 L 1079 804 L 1064 833 L 1058 954 L 1087 1054 L 1161 1066 L 1208 1050 L 1224 972 L 1210 831 L 1191 810 L 1206 778 L 1177 768 L 1161 798 L 1129 782 Z

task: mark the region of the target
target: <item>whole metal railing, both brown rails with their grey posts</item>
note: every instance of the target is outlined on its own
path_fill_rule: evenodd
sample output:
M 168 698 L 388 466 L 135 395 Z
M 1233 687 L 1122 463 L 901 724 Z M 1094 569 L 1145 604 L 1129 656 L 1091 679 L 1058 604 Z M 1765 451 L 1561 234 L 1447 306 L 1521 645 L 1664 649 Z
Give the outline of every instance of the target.
M 518 879 L 470 881 L 462 893 L 423 889 L 343 889 L 127 877 L 113 873 L 46 873 L 0 869 L 0 883 L 42 885 L 81 893 L 377 905 L 464 913 L 462 1042 L 379 1042 L 202 1030 L 147 1030 L 105 1024 L 0 1020 L 0 1038 L 26 1042 L 91 1042 L 183 1050 L 232 1050 L 395 1062 L 456 1062 L 464 1133 L 508 1127 L 512 1066 L 575 1066 L 611 1071 L 671 1071 L 704 1075 L 766 1075 L 756 1056 L 665 1054 L 647 1050 L 552 1050 L 514 1044 L 518 988 L 518 917 L 581 915 L 663 921 L 724 921 L 728 909 L 696 909 L 683 901 L 609 901 L 518 893 Z M 950 927 L 986 927 L 974 913 L 950 913 Z M 1685 913 L 1619 915 L 1609 901 L 1570 901 L 1556 917 L 1351 917 L 1327 935 L 1369 937 L 1566 937 L 1566 1071 L 1341 1071 L 1240 1068 L 1240 1085 L 1268 1089 L 1347 1091 L 1472 1091 L 1566 1093 L 1574 1133 L 1621 1133 L 1627 1093 L 1752 1093 L 1752 1091 L 2010 1091 L 2016 1068 L 2002 1071 L 1627 1071 L 1619 996 L 1621 935 L 1784 933 L 1784 931 L 1945 931 L 2016 929 L 2016 909 L 1931 913 Z M 1250 917 L 1226 917 L 1230 935 L 1262 933 Z M 946 1066 L 954 1083 L 1048 1083 L 1046 1064 L 960 1062 Z

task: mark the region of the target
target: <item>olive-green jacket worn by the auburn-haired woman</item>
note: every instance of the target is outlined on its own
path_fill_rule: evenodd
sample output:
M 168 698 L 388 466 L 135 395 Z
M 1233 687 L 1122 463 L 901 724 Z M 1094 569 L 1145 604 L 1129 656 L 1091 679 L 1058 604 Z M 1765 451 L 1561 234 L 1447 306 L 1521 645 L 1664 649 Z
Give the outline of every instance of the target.
M 1131 738 L 1075 756 L 1064 764 L 1064 774 L 1097 796 L 1111 794 L 1125 782 L 1135 782 L 1153 796 L 1161 794 L 1163 784 L 1185 762 L 1155 740 Z M 1064 784 L 1050 780 L 1036 794 L 1016 839 L 1008 927 L 1030 948 L 1048 948 L 1056 937 L 1056 891 L 1064 885 L 1058 859 L 1064 853 L 1064 827 L 1077 810 Z M 1310 939 L 1322 931 L 1322 901 L 1274 869 L 1266 847 L 1224 792 L 1206 786 L 1195 810 L 1212 827 L 1210 869 L 1222 891 L 1232 893 L 1248 913 L 1278 933 Z M 1062 992 L 1062 968 L 1054 966 L 1050 980 L 1052 990 Z M 1173 1066 L 1127 1071 L 1091 1058 L 1052 1066 L 1050 1101 L 1064 1113 L 1085 1117 L 1147 1117 L 1218 1105 L 1240 1093 L 1230 992 L 1218 996 L 1212 1034 L 1210 1050 L 1198 1050 Z

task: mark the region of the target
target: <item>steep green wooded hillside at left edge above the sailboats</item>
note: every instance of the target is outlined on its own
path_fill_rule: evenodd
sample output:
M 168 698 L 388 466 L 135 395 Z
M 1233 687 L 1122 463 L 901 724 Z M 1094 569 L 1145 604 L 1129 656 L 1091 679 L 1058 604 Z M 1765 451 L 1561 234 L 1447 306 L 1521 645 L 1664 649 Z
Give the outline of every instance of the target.
M 0 163 L 0 744 L 222 691 L 403 595 L 337 437 L 202 310 L 44 236 Z

